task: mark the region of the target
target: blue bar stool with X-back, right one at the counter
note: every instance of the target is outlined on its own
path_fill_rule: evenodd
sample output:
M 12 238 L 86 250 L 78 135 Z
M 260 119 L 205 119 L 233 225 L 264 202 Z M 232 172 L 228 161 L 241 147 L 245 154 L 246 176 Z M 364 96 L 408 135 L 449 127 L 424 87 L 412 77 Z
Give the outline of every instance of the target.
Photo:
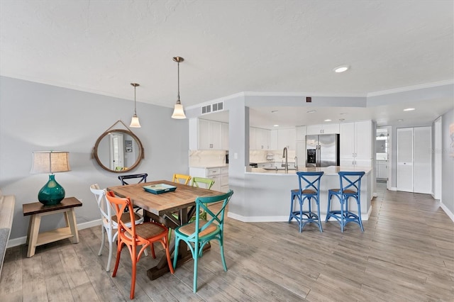
M 328 210 L 326 211 L 325 222 L 329 218 L 333 217 L 338 220 L 341 225 L 341 232 L 345 228 L 345 225 L 350 222 L 355 222 L 360 225 L 361 232 L 364 232 L 361 220 L 361 178 L 365 172 L 339 172 L 339 179 L 341 181 L 341 189 L 329 189 L 328 190 Z M 345 186 L 343 186 L 345 184 Z M 336 196 L 338 201 L 341 203 L 341 211 L 331 211 L 331 197 Z M 348 199 L 355 198 L 358 204 L 358 215 L 348 211 Z

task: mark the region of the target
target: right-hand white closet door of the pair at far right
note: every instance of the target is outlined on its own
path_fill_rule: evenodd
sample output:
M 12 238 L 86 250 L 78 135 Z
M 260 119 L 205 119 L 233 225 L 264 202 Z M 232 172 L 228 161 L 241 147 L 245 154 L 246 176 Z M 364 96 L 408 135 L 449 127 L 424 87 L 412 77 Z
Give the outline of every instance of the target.
M 414 128 L 414 192 L 432 193 L 432 128 Z

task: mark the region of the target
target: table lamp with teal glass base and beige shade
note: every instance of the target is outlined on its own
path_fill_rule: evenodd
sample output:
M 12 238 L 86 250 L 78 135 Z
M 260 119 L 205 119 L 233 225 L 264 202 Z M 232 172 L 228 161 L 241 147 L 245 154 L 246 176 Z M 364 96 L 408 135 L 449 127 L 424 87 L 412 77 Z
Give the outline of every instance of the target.
M 54 173 L 70 171 L 68 154 L 61 151 L 33 152 L 31 173 L 50 173 L 48 183 L 38 193 L 38 201 L 45 206 L 60 203 L 65 198 L 65 189 L 55 181 Z

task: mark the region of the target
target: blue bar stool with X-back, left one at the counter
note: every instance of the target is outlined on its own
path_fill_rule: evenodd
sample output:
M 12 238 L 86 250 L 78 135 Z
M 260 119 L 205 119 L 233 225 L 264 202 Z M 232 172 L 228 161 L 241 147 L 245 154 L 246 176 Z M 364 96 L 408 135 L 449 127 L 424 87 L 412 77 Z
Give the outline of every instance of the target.
M 320 222 L 320 179 L 323 172 L 297 172 L 299 189 L 292 190 L 292 198 L 290 200 L 290 216 L 289 223 L 294 218 L 299 224 L 299 233 L 304 228 L 306 223 L 317 223 L 320 232 L 323 232 Z M 299 211 L 293 211 L 294 198 L 299 201 Z M 309 207 L 308 211 L 303 211 L 304 201 L 307 199 Z M 311 199 L 314 199 L 317 207 L 317 213 L 311 210 Z

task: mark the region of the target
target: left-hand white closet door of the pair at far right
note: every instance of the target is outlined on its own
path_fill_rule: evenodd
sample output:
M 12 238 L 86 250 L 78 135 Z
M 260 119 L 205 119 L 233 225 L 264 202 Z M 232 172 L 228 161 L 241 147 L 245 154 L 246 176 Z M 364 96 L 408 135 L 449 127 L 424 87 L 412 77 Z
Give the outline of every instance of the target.
M 413 128 L 397 129 L 397 191 L 413 192 Z

